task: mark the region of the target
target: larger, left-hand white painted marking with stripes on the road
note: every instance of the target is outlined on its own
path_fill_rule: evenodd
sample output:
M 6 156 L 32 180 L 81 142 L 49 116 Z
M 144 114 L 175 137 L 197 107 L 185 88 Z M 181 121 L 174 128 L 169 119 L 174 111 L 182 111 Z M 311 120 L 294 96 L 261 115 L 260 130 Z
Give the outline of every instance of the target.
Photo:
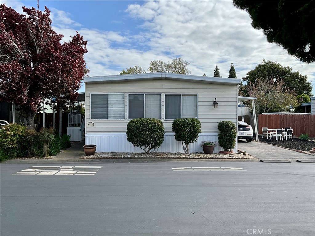
M 95 175 L 102 168 L 97 166 L 32 166 L 12 175 Z

